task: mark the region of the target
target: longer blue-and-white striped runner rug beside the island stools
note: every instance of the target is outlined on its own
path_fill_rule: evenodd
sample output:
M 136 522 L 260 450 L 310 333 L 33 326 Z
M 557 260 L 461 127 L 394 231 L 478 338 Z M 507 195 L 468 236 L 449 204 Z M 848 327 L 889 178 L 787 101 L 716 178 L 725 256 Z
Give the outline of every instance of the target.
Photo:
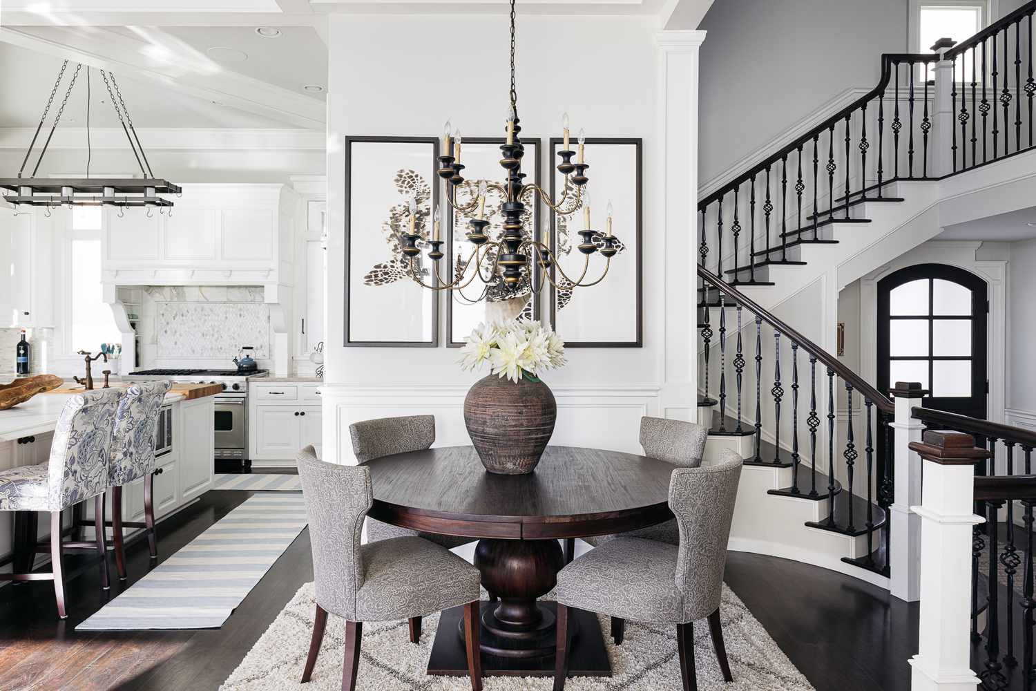
M 301 495 L 253 496 L 76 630 L 219 628 L 306 524 Z

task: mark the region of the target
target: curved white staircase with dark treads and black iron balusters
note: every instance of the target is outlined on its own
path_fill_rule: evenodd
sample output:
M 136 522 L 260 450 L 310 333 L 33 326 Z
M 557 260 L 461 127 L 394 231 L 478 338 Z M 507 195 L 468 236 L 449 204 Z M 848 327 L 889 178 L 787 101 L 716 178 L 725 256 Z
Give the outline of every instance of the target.
M 870 92 L 698 202 L 698 422 L 707 458 L 746 459 L 731 549 L 888 587 L 894 406 L 830 352 L 838 291 L 947 225 L 1032 205 L 1034 12 L 882 56 Z M 962 71 L 976 54 L 985 80 Z

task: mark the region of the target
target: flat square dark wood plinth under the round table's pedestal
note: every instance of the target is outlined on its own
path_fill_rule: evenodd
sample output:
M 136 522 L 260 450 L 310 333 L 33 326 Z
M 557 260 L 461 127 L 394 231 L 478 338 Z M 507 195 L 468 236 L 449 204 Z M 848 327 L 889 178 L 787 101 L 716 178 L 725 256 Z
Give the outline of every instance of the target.
M 492 614 L 499 603 L 483 601 L 480 611 L 483 614 L 483 627 L 480 632 L 482 644 L 482 673 L 485 676 L 552 676 L 554 674 L 554 615 L 557 605 L 553 602 L 541 601 L 545 620 L 549 628 L 544 631 L 540 645 L 534 647 L 549 650 L 546 655 L 533 657 L 500 657 L 491 655 L 487 649 L 498 645 L 507 647 L 506 637 L 493 633 L 487 625 L 486 614 Z M 432 654 L 428 659 L 428 673 L 447 676 L 466 676 L 467 657 L 464 649 L 464 638 L 461 635 L 464 624 L 464 608 L 454 607 L 442 612 L 439 626 L 432 643 Z M 608 652 L 604 646 L 604 635 L 597 614 L 581 609 L 569 610 L 569 629 L 572 630 L 572 647 L 569 657 L 569 676 L 611 676 L 611 664 L 608 662 Z M 549 640 L 548 640 L 549 639 Z M 527 645 L 527 639 L 522 645 Z

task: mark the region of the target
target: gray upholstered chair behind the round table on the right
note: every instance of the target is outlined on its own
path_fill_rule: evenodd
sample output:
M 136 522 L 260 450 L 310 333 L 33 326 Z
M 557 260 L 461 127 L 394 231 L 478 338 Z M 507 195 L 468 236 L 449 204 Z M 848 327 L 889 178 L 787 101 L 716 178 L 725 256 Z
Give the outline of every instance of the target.
M 640 447 L 644 456 L 657 458 L 681 468 L 696 468 L 701 465 L 701 457 L 706 452 L 706 440 L 709 430 L 701 425 L 685 423 L 680 420 L 664 420 L 662 418 L 640 419 Z M 599 547 L 614 535 L 599 535 L 584 538 L 594 547 Z M 623 534 L 624 538 L 643 538 L 658 540 L 670 545 L 680 542 L 680 531 L 677 521 L 666 521 L 658 525 L 650 525 L 638 530 Z M 566 560 L 571 562 L 574 545 L 566 545 Z

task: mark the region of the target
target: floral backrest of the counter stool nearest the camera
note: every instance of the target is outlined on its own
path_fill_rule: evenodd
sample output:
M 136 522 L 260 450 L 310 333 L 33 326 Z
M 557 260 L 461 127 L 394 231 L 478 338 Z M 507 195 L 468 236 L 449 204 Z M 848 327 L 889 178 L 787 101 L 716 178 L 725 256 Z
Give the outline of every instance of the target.
M 76 394 L 58 416 L 48 464 L 48 502 L 66 509 L 108 489 L 112 431 L 122 392 Z

